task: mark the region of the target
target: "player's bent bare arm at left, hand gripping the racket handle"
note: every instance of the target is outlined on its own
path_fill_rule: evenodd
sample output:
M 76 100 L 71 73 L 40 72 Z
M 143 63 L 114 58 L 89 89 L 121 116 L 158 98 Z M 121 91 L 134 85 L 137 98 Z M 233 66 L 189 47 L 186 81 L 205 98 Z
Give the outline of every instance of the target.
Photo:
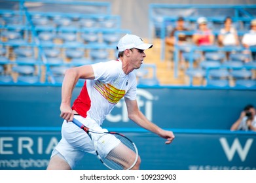
M 60 117 L 67 121 L 73 120 L 71 108 L 72 93 L 79 78 L 94 79 L 92 65 L 83 65 L 67 69 L 62 82 L 62 103 L 60 105 Z

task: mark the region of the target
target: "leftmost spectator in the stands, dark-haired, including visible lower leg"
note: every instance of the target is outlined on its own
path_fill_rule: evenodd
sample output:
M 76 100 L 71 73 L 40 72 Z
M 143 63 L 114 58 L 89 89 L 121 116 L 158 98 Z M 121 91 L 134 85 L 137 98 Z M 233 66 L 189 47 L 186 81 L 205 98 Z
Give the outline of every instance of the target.
M 188 44 L 188 39 L 191 37 L 190 35 L 186 35 L 185 33 L 179 33 L 178 39 L 175 40 L 175 32 L 177 31 L 189 31 L 185 27 L 185 20 L 182 16 L 177 18 L 176 27 L 170 33 L 170 37 L 166 37 L 166 44 L 170 46 L 170 52 L 174 52 L 174 46 L 177 45 L 185 45 Z M 179 52 L 179 58 L 181 58 L 181 67 L 185 67 L 185 60 L 182 58 L 182 53 Z

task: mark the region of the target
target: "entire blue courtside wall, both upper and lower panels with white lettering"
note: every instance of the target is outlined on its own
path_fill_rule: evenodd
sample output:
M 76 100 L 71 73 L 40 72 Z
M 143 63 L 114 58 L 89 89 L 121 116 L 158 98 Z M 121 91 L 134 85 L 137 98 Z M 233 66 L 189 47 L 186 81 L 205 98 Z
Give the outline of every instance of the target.
M 60 100 L 57 86 L 0 86 L 0 169 L 46 169 L 61 138 Z M 120 101 L 104 127 L 136 143 L 141 169 L 256 169 L 256 133 L 229 131 L 244 105 L 256 103 L 255 91 L 139 88 L 137 101 L 149 119 L 175 133 L 165 145 L 130 122 Z M 105 167 L 88 155 L 76 169 Z

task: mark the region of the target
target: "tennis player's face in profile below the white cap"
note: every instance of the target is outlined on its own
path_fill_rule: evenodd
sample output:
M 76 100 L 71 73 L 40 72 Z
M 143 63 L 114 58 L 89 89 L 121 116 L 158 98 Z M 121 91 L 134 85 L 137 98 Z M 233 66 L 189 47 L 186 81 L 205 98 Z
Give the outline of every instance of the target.
M 146 57 L 146 54 L 144 50 L 139 50 L 137 48 L 133 48 L 131 50 L 131 55 L 130 55 L 130 63 L 132 64 L 132 67 L 134 69 L 139 69 L 141 67 L 141 64 L 143 63 L 143 59 Z

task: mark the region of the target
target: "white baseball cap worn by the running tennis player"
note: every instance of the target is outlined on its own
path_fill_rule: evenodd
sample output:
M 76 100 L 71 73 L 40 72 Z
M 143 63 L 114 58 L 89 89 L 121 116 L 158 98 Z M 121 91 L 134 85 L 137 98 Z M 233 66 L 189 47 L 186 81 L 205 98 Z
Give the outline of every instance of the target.
M 147 50 L 149 48 L 152 48 L 152 46 L 153 44 L 144 43 L 140 37 L 137 37 L 137 35 L 126 34 L 120 39 L 119 43 L 117 44 L 117 50 L 119 50 L 119 52 L 123 52 L 126 49 L 132 48 Z

